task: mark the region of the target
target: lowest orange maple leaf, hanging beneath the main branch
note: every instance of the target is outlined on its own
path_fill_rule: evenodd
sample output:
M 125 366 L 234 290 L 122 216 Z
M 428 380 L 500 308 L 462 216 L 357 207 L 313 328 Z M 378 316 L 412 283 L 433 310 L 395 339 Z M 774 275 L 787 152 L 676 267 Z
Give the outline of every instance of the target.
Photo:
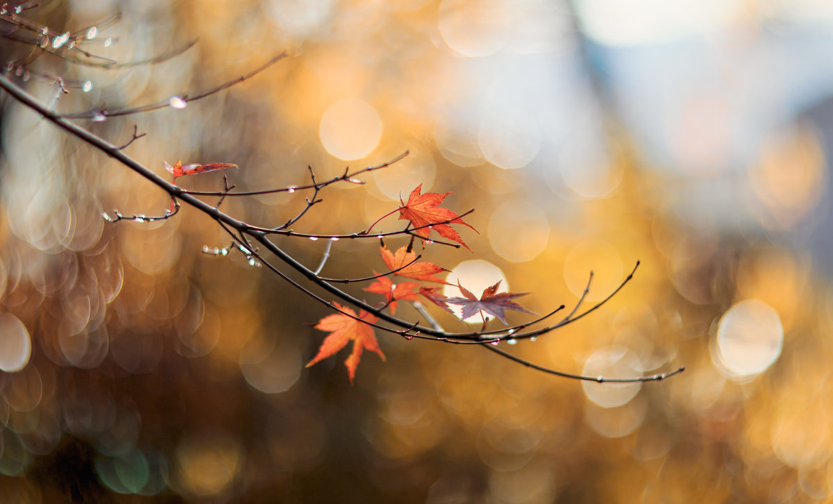
M 362 320 L 357 320 L 353 318 L 356 317 L 356 312 L 353 312 L 350 308 L 342 307 L 337 302 L 333 302 L 332 304 L 344 313 L 333 313 L 318 321 L 318 325 L 315 328 L 330 332 L 331 334 L 324 338 L 324 342 L 322 342 L 321 347 L 318 349 L 318 354 L 312 357 L 312 361 L 307 362 L 307 367 L 312 366 L 322 359 L 335 355 L 347 345 L 347 342 L 353 340 L 353 352 L 344 361 L 344 365 L 347 366 L 347 372 L 350 375 L 350 382 L 352 383 L 353 378 L 356 377 L 356 368 L 359 365 L 359 359 L 362 357 L 362 350 L 367 348 L 367 350 L 377 352 L 379 357 L 382 357 L 382 361 L 386 360 L 385 354 L 379 348 L 379 342 L 376 341 L 376 336 L 373 335 L 373 327 L 365 323 L 376 322 L 379 318 L 364 310 L 360 310 L 358 318 Z M 345 315 L 345 313 L 349 315 Z

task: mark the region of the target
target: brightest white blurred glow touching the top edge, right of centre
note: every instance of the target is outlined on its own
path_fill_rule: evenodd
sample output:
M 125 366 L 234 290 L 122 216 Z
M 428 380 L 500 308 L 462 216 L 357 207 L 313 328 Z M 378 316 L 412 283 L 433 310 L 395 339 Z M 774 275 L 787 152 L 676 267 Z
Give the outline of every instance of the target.
M 661 43 L 716 31 L 739 7 L 723 0 L 581 0 L 576 2 L 584 31 L 613 46 Z

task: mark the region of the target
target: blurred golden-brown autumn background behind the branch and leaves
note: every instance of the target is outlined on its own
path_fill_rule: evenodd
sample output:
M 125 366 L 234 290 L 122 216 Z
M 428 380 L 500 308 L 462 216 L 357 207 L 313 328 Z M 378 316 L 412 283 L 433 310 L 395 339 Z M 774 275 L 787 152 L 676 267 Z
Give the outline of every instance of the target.
M 459 230 L 473 252 L 423 257 L 476 293 L 531 292 L 538 313 L 576 302 L 591 270 L 598 301 L 640 260 L 601 310 L 501 348 L 591 376 L 686 372 L 582 384 L 379 332 L 387 362 L 366 352 L 352 386 L 348 351 L 305 368 L 326 308 L 203 253 L 229 240 L 191 208 L 104 222 L 170 200 L 3 97 L 2 502 L 833 501 L 826 2 L 40 3 L 27 15 L 58 31 L 121 13 L 87 46 L 119 62 L 197 40 L 119 70 L 40 58 L 77 84 L 62 112 L 193 94 L 289 53 L 184 108 L 78 121 L 115 144 L 137 125 L 125 152 L 147 167 L 230 162 L 230 182 L 260 189 L 410 150 L 328 187 L 294 228 L 354 232 L 419 184 L 454 192 L 447 207 L 475 208 L 479 234 Z M 28 52 L 0 41 L 4 68 Z M 222 173 L 177 183 L 214 190 Z M 277 226 L 307 196 L 223 207 Z M 325 250 L 278 242 L 309 267 Z M 322 274 L 383 268 L 376 242 L 342 240 Z

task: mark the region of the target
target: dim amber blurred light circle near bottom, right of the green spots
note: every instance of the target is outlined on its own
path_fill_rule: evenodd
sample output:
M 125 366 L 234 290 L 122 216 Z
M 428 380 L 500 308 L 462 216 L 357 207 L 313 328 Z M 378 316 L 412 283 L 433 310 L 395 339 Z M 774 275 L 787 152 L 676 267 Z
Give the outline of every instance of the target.
M 236 439 L 216 433 L 188 437 L 177 447 L 177 486 L 200 497 L 222 493 L 245 463 Z

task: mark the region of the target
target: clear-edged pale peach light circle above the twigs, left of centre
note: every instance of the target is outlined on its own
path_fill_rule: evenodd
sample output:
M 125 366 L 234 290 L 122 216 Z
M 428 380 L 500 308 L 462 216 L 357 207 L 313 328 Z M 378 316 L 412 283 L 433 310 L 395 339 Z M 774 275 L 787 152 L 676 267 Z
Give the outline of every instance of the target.
M 347 98 L 333 103 L 321 117 L 318 134 L 327 152 L 341 159 L 370 154 L 382 137 L 382 118 L 370 103 Z

